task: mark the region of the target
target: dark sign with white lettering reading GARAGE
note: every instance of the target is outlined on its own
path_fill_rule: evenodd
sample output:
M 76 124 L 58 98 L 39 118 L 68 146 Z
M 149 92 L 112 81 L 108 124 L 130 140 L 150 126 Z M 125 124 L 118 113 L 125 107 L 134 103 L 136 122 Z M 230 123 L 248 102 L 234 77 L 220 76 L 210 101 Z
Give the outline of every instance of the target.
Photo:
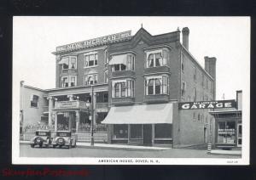
M 184 102 L 178 104 L 179 110 L 198 110 L 198 109 L 221 109 L 221 108 L 236 108 L 236 100 L 222 101 L 198 101 Z

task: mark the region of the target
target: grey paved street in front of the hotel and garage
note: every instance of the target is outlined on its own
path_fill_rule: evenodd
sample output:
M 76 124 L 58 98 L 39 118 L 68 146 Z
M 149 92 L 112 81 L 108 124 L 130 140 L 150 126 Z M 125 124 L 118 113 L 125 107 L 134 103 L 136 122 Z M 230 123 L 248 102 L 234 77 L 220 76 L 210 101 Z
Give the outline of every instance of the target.
M 20 143 L 20 157 L 117 157 L 117 158 L 240 158 L 233 155 L 207 155 L 201 149 L 166 149 L 166 150 L 124 150 L 124 149 L 45 149 L 31 148 Z

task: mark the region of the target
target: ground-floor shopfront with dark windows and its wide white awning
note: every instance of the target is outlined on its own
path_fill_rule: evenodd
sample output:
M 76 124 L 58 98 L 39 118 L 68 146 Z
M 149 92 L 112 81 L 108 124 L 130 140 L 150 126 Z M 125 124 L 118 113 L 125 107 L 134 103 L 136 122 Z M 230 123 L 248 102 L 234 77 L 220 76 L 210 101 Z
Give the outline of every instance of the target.
M 102 121 L 108 124 L 108 143 L 172 144 L 173 104 L 112 107 Z

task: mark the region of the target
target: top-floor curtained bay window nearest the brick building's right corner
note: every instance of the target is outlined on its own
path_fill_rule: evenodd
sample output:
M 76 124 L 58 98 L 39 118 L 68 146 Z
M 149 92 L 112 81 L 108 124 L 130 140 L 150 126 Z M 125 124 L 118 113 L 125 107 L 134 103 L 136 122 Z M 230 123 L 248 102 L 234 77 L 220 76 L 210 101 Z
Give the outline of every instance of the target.
M 168 51 L 166 48 L 148 51 L 147 52 L 147 60 L 146 60 L 146 67 L 157 67 L 167 65 L 168 59 Z

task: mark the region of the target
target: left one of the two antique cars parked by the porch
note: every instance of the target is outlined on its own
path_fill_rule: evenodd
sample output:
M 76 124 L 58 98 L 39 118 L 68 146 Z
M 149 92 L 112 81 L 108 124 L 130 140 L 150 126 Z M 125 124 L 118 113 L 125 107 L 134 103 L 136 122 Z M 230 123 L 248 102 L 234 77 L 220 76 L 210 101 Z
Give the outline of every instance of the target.
M 36 135 L 30 140 L 30 146 L 34 148 L 38 145 L 40 148 L 42 146 L 49 148 L 51 141 L 52 138 L 49 130 L 37 130 Z

